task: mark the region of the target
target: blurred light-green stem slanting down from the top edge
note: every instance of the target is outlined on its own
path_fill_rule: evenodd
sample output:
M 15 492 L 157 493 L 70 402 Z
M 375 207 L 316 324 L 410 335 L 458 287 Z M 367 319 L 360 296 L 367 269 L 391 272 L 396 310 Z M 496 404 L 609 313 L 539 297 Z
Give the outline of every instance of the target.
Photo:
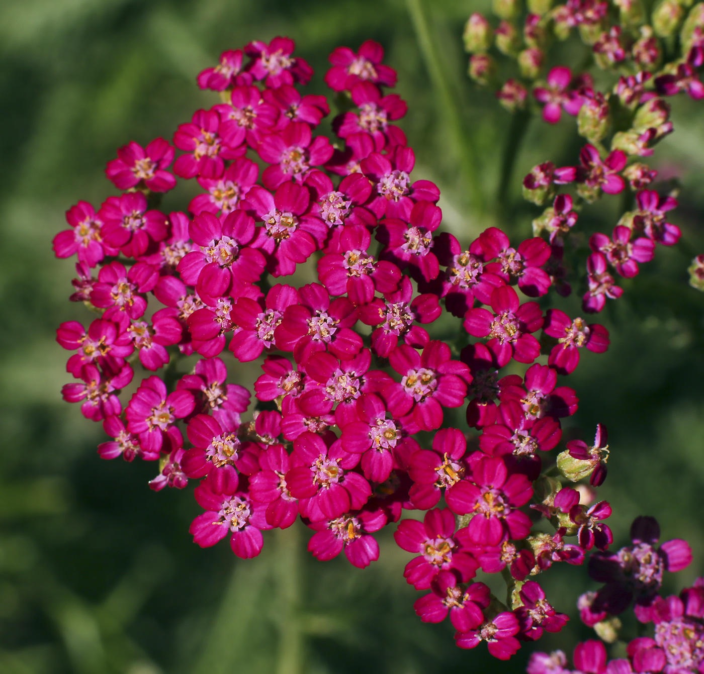
M 446 117 L 447 127 L 455 139 L 463 181 L 469 187 L 470 201 L 474 209 L 477 210 L 477 215 L 479 215 L 484 210 L 484 194 L 477 176 L 477 153 L 470 135 L 465 131 L 457 96 L 453 96 L 450 84 L 441 67 L 441 61 L 421 3 L 422 0 L 406 0 L 420 53 L 423 61 L 425 61 L 425 67 L 428 70 L 430 81 L 440 103 L 440 113 Z

